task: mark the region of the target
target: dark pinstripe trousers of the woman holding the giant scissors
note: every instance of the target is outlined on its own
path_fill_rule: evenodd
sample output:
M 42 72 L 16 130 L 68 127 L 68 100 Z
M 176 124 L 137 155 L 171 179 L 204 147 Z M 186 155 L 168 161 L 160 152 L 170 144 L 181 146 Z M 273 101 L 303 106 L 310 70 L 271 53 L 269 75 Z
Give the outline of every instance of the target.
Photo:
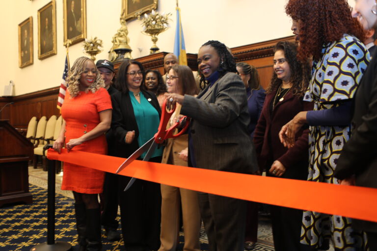
M 243 251 L 246 202 L 198 192 L 210 251 Z

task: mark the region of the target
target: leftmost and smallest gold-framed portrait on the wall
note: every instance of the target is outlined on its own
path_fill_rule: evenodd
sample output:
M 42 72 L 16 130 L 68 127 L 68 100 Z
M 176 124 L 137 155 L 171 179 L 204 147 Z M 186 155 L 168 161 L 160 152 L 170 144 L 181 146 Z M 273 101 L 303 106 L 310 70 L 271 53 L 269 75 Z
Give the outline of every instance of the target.
M 18 25 L 18 66 L 33 64 L 33 17 Z

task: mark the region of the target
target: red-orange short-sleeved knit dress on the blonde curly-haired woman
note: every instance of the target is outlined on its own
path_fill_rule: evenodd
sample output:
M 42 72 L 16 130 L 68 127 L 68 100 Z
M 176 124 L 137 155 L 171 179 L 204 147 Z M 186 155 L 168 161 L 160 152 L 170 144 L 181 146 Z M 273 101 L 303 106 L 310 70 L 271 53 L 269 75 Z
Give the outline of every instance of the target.
M 99 112 L 112 109 L 108 91 L 104 88 L 95 93 L 80 92 L 74 98 L 67 93 L 61 107 L 61 115 L 66 122 L 65 143 L 81 137 L 100 123 Z M 73 150 L 99 154 L 107 153 L 105 134 L 88 140 Z M 95 169 L 64 162 L 62 190 L 72 190 L 84 194 L 102 193 L 105 173 Z

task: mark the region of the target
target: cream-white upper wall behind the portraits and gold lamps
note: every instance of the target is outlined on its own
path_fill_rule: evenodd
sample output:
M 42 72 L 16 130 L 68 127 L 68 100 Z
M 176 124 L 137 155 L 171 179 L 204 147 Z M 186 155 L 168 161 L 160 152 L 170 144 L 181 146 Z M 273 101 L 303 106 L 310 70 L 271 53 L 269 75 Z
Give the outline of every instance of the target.
M 43 60 L 38 59 L 37 11 L 49 1 L 11 0 L 2 3 L 0 95 L 9 80 L 15 83 L 15 95 L 60 84 L 65 58 L 63 0 L 56 0 L 57 54 Z M 120 27 L 121 1 L 86 0 L 87 37 L 97 36 L 103 40 L 104 45 L 104 51 L 96 59 L 108 58 L 111 38 Z M 232 48 L 290 36 L 291 22 L 284 12 L 286 2 L 287 0 L 180 0 L 186 51 L 197 53 L 199 47 L 208 40 L 219 40 Z M 161 51 L 173 51 L 175 3 L 176 0 L 159 0 L 158 3 L 159 12 L 172 13 L 170 28 L 158 36 L 157 45 Z M 29 16 L 33 17 L 34 63 L 21 69 L 18 67 L 18 24 Z M 128 29 L 132 56 L 137 58 L 148 55 L 152 42 L 149 36 L 141 33 L 141 21 L 128 22 Z M 71 64 L 82 55 L 82 42 L 69 48 Z

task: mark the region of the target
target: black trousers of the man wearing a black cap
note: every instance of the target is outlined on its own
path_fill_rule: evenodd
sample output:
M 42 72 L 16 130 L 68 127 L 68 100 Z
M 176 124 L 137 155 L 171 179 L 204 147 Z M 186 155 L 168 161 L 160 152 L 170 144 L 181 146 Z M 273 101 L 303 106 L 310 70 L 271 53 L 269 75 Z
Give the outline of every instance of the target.
M 118 228 L 118 221 L 115 220 L 118 214 L 118 178 L 119 175 L 116 174 L 105 174 L 104 191 L 101 197 L 103 204 L 101 225 L 105 229 Z

